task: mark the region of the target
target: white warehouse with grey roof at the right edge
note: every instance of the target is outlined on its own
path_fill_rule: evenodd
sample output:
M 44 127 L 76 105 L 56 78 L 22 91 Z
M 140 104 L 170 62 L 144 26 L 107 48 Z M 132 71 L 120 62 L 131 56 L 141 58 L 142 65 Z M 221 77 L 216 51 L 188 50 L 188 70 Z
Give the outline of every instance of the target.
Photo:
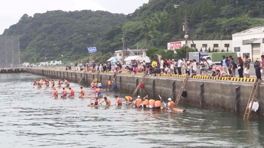
M 250 28 L 232 35 L 232 51 L 241 56 L 248 55 L 254 61 L 264 54 L 264 26 Z

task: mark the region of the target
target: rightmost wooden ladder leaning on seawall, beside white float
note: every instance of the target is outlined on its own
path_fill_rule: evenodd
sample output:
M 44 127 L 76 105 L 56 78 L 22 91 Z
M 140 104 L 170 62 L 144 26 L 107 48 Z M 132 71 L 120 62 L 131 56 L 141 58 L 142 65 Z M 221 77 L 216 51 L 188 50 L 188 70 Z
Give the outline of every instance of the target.
M 244 119 L 247 119 L 248 120 L 249 117 L 250 117 L 250 113 L 252 111 L 252 106 L 253 106 L 253 100 L 254 100 L 255 94 L 256 94 L 256 89 L 258 88 L 260 81 L 261 81 L 260 79 L 258 79 L 258 80 L 256 79 L 254 81 L 254 85 L 253 85 L 252 91 L 250 93 L 248 102 L 247 102 L 247 108 L 246 108 L 246 111 L 245 111 L 245 114 L 244 114 Z M 250 105 L 250 102 L 251 102 L 251 105 Z

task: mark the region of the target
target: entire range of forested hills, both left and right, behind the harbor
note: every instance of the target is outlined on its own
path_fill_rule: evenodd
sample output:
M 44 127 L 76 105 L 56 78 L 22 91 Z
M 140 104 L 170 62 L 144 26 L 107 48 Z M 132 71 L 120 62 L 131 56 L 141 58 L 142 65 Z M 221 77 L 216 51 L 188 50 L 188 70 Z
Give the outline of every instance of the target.
M 91 10 L 25 14 L 3 34 L 20 35 L 21 60 L 28 62 L 58 60 L 61 50 L 66 61 L 81 59 L 94 39 L 102 55 L 121 50 L 122 33 L 130 49 L 137 42 L 143 49 L 167 49 L 167 42 L 184 39 L 184 9 L 174 4 L 186 7 L 192 39 L 232 39 L 233 33 L 264 25 L 263 0 L 238 0 L 237 8 L 235 0 L 150 0 L 127 16 Z

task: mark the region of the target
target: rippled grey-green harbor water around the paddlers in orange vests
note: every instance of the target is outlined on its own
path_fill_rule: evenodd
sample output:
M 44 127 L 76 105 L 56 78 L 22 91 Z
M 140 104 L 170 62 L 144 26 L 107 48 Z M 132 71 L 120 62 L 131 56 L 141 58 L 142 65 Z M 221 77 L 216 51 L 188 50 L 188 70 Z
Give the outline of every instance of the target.
M 264 147 L 263 120 L 184 105 L 178 107 L 186 112 L 87 107 L 90 99 L 77 97 L 82 85 L 70 83 L 74 99 L 54 99 L 52 88 L 33 88 L 32 82 L 40 79 L 44 77 L 0 74 L 1 147 Z M 86 95 L 93 91 L 83 87 Z M 114 95 L 131 96 L 102 94 L 111 104 Z

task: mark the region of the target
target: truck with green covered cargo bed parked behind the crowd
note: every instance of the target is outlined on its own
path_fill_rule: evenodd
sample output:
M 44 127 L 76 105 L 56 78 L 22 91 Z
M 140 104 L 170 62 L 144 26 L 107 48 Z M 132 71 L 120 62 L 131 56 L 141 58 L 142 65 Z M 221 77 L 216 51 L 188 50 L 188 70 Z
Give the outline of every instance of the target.
M 207 57 L 211 57 L 214 64 L 220 65 L 221 60 L 223 59 L 223 55 L 225 57 L 232 56 L 235 60 L 237 59 L 237 52 L 213 52 L 213 53 L 208 53 Z

